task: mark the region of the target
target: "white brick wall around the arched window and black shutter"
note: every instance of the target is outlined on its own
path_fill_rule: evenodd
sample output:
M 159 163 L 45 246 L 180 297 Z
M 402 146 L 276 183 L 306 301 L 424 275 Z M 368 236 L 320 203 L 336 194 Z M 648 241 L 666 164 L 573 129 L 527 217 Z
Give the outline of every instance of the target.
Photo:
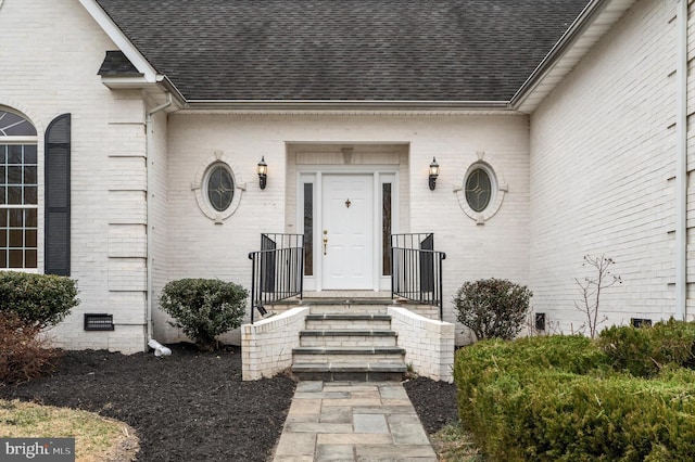
M 46 127 L 72 114 L 72 277 L 81 304 L 51 335 L 67 348 L 142 350 L 141 95 L 114 93 L 101 84 L 97 70 L 105 51 L 116 47 L 77 0 L 4 0 L 0 30 L 0 105 L 23 112 L 36 126 L 39 178 Z M 39 272 L 42 206 L 40 187 Z M 85 332 L 85 312 L 114 315 L 115 331 Z

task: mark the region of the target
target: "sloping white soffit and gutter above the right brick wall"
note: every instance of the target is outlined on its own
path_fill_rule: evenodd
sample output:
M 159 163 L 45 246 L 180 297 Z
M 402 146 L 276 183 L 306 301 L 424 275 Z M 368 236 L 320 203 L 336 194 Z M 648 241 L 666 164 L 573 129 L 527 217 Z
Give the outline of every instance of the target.
M 594 0 L 553 47 L 531 77 L 511 99 L 519 112 L 530 114 L 601 40 L 636 0 Z

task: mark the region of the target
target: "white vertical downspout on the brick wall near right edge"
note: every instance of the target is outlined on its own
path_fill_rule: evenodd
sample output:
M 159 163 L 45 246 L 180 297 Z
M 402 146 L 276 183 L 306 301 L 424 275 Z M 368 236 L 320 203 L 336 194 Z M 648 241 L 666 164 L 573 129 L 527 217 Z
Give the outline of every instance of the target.
M 675 64 L 675 312 L 685 320 L 687 292 L 687 0 L 679 0 Z

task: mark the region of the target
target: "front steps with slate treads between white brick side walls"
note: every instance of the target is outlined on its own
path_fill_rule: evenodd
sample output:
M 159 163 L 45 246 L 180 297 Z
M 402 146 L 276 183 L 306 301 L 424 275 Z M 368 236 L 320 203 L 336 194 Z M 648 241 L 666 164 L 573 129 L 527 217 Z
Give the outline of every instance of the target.
M 386 304 L 315 301 L 292 350 L 292 372 L 312 381 L 401 381 L 407 367 Z

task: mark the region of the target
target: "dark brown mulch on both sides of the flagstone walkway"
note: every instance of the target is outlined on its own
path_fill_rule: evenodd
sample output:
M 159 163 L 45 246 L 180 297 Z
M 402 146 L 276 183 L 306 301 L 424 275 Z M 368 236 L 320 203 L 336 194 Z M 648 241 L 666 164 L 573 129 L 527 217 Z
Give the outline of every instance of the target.
M 52 375 L 0 386 L 0 398 L 78 408 L 125 422 L 140 439 L 138 461 L 268 461 L 294 380 L 242 382 L 238 347 L 201 354 L 190 344 L 168 346 L 167 358 L 65 351 Z M 404 386 L 428 433 L 456 419 L 454 385 L 416 378 Z

